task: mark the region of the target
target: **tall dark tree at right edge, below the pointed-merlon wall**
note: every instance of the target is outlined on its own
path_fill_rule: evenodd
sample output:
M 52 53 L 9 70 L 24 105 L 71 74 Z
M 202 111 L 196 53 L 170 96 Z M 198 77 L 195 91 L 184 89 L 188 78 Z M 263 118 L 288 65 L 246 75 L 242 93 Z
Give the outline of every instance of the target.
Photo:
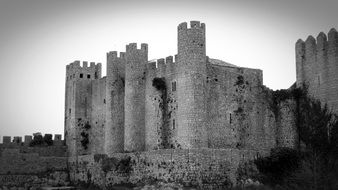
M 299 106 L 298 132 L 305 157 L 294 177 L 308 181 L 302 184 L 307 189 L 338 189 L 338 117 L 327 104 L 309 96 Z

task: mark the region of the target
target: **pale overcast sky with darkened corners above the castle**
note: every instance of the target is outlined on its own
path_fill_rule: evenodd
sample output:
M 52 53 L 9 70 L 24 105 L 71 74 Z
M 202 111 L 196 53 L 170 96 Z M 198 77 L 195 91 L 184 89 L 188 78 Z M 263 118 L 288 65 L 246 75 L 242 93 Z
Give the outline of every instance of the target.
M 337 10 L 337 0 L 0 0 L 0 136 L 63 134 L 67 64 L 101 62 L 105 75 L 106 52 L 130 42 L 148 43 L 149 59 L 175 55 L 190 20 L 206 24 L 209 57 L 288 88 L 295 42 L 338 28 Z

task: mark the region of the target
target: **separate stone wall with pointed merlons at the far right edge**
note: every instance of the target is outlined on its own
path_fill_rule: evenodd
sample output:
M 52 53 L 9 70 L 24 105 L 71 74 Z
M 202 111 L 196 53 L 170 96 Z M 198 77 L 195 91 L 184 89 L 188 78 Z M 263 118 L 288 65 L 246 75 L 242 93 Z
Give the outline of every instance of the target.
M 309 36 L 296 43 L 297 86 L 306 83 L 309 92 L 338 111 L 338 32 L 331 29 L 317 39 Z

